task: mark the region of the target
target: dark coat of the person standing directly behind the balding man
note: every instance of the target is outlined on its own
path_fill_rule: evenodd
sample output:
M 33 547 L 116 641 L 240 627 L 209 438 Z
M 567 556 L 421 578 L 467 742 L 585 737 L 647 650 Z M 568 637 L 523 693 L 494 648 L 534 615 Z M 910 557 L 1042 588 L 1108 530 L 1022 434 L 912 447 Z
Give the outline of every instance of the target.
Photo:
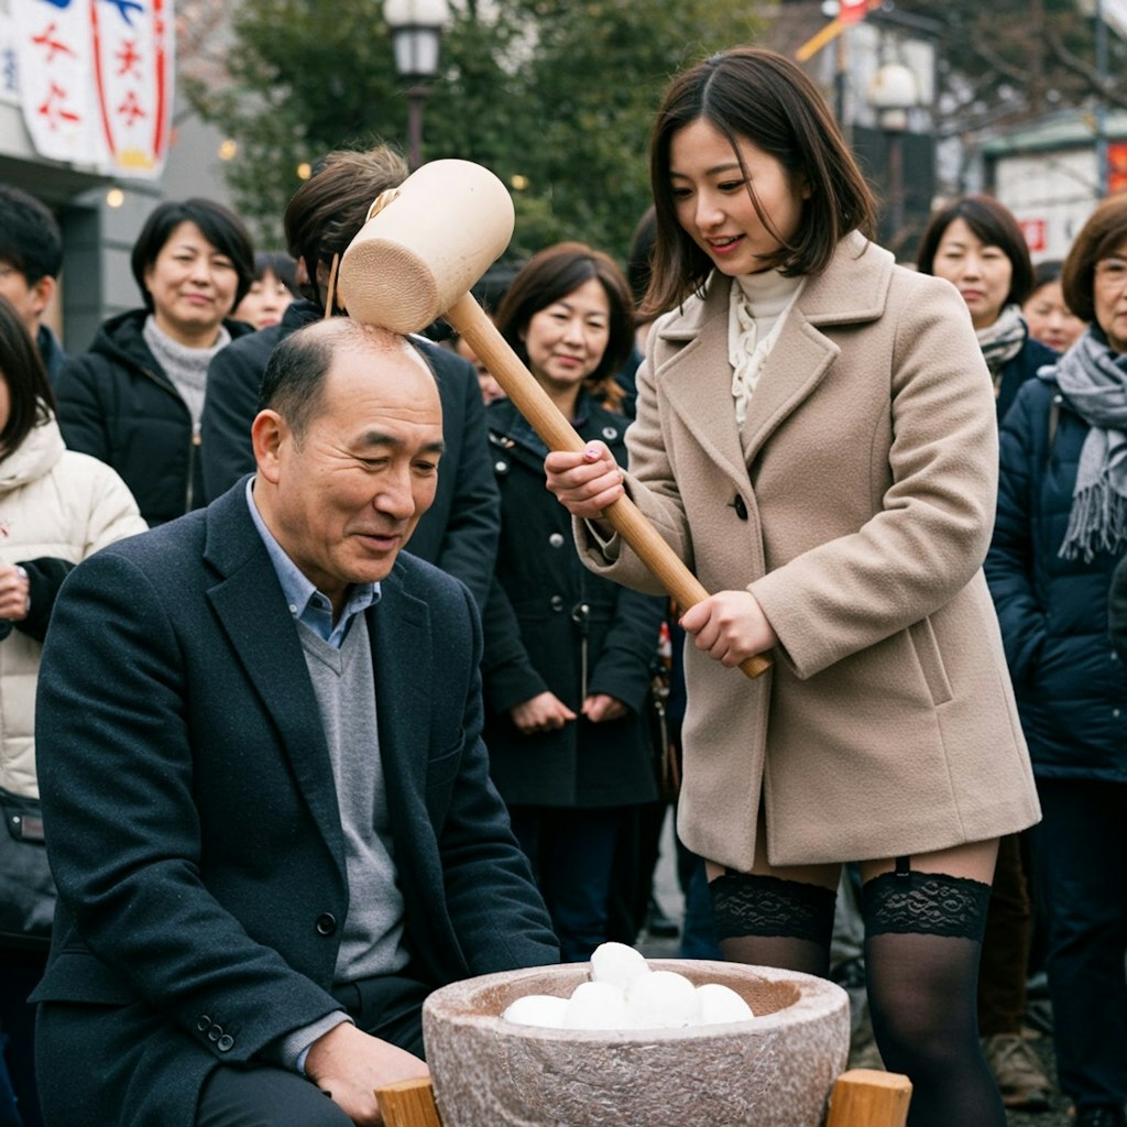
M 204 400 L 203 477 L 208 500 L 255 470 L 250 424 L 258 412 L 258 388 L 275 346 L 295 329 L 321 318 L 311 301 L 295 301 L 279 325 L 272 325 L 219 353 L 207 370 Z M 408 545 L 411 554 L 456 576 L 485 604 L 497 552 L 497 487 L 489 467 L 485 406 L 472 365 L 429 340 L 411 337 L 438 381 L 445 450 L 438 489 Z

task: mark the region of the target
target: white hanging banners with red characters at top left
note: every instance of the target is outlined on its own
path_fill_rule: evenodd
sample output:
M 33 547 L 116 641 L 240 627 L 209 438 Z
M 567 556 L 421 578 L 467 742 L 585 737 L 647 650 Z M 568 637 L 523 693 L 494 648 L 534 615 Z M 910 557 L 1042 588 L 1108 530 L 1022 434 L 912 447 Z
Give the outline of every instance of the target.
M 172 0 L 9 3 L 35 151 L 110 176 L 159 176 L 171 122 Z

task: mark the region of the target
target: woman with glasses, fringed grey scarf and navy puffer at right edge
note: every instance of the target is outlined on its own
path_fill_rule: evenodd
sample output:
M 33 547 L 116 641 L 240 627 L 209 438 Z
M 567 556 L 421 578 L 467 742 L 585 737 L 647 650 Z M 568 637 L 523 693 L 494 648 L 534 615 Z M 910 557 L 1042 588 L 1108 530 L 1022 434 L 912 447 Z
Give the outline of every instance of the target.
M 1127 552 L 1127 197 L 1095 208 L 1061 281 L 1090 325 L 1002 421 L 986 575 L 1044 813 L 1033 855 L 1061 1088 L 1076 1127 L 1122 1127 L 1127 671 L 1108 594 Z

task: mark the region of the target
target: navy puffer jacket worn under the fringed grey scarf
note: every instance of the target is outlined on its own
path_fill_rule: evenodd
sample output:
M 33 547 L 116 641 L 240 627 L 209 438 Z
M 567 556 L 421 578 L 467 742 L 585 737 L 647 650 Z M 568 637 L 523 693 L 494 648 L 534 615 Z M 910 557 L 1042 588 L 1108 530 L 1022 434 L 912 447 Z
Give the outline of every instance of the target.
M 1018 391 L 1002 420 L 986 578 L 1035 773 L 1127 782 L 1127 669 L 1108 639 L 1118 559 L 1058 554 L 1088 431 L 1055 382 Z

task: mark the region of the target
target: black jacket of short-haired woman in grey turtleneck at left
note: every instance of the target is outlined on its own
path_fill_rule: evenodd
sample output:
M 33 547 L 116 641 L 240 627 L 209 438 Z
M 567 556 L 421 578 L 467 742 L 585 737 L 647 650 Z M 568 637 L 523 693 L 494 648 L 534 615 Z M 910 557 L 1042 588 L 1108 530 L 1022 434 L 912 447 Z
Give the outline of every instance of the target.
M 149 524 L 204 505 L 199 446 L 187 403 L 142 336 L 149 311 L 112 317 L 90 350 L 59 373 L 59 428 L 71 450 L 117 470 Z M 223 322 L 232 339 L 254 331 Z

